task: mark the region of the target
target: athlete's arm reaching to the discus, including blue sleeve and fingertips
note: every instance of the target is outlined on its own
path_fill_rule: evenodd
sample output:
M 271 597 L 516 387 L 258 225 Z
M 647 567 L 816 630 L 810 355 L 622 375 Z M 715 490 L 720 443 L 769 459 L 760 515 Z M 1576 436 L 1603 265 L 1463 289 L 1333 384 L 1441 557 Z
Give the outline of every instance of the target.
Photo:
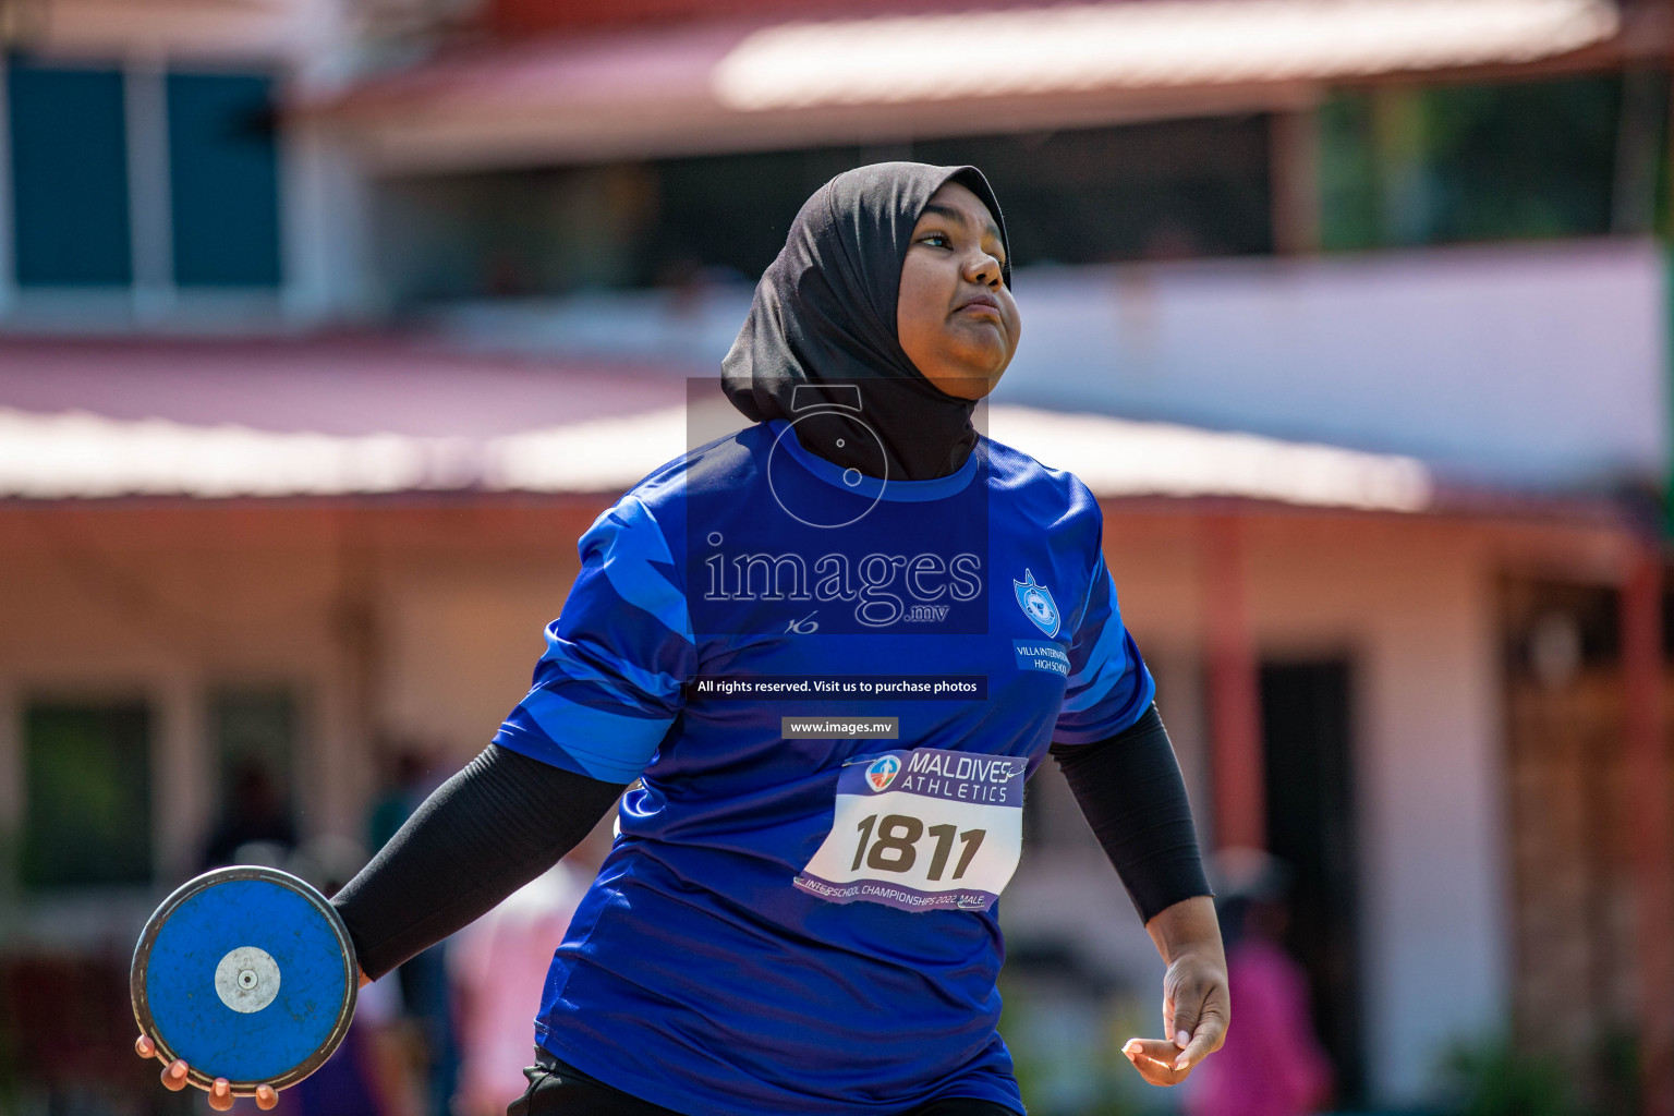
M 482 755 L 444 783 L 333 897 L 362 977 L 472 922 L 574 848 L 656 755 L 696 673 L 675 559 L 628 495 L 578 545 L 581 572 L 546 631 L 529 693 Z M 154 1054 L 149 1039 L 141 1052 Z M 164 1069 L 186 1086 L 179 1064 Z M 233 1098 L 211 1089 L 209 1106 Z M 258 1096 L 271 1108 L 276 1094 Z

